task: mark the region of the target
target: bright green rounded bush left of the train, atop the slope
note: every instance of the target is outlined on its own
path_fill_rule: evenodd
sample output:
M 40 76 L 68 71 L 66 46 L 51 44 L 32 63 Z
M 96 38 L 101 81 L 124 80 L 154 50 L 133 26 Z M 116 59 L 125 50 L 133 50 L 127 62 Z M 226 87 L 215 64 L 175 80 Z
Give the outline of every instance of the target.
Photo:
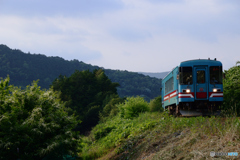
M 119 110 L 121 117 L 132 119 L 137 117 L 139 113 L 149 111 L 149 106 L 143 97 L 128 97 L 124 104 L 119 105 Z

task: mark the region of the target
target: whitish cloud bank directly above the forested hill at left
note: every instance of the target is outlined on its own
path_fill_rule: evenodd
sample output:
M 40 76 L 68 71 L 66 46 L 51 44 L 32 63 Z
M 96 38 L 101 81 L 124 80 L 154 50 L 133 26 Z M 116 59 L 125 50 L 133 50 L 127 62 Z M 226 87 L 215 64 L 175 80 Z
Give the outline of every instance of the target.
M 81 44 L 89 36 L 87 30 L 78 27 L 82 21 L 15 16 L 0 16 L 0 21 L 5 22 L 0 28 L 0 41 L 11 48 L 84 62 L 102 56 L 101 52 Z

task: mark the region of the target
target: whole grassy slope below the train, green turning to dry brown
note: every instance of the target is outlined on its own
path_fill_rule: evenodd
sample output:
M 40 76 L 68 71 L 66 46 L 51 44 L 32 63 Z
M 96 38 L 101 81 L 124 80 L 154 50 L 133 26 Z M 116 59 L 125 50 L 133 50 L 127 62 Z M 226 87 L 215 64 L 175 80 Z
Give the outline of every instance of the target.
M 240 153 L 238 117 L 174 118 L 167 113 L 119 115 L 83 137 L 82 159 L 207 159 L 210 151 Z M 224 147 L 223 147 L 224 146 Z

